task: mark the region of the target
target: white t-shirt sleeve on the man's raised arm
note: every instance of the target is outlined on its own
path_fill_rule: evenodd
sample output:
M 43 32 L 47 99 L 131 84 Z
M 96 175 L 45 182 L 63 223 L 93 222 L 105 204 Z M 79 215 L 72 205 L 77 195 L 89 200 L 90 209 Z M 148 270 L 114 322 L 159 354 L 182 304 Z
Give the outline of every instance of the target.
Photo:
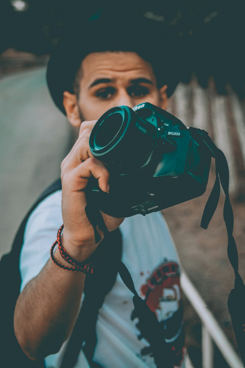
M 27 221 L 20 254 L 20 291 L 39 274 L 50 257 L 50 248 L 63 223 L 61 201 L 61 191 L 49 195 L 35 208 Z

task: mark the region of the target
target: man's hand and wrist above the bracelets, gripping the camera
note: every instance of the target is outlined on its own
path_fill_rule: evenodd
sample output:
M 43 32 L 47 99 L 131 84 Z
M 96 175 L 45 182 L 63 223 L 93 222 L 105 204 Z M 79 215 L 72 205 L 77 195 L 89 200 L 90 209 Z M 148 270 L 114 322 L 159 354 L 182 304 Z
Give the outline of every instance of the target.
M 79 137 L 61 164 L 64 222 L 62 243 L 67 252 L 79 262 L 87 259 L 98 246 L 95 244 L 93 227 L 85 213 L 87 200 L 84 189 L 89 178 L 95 177 L 99 188 L 104 192 L 109 191 L 109 171 L 92 156 L 89 148 L 89 138 L 95 123 L 96 120 L 81 124 Z M 117 229 L 124 220 L 105 213 L 102 216 L 109 231 Z M 102 231 L 98 231 L 103 237 Z

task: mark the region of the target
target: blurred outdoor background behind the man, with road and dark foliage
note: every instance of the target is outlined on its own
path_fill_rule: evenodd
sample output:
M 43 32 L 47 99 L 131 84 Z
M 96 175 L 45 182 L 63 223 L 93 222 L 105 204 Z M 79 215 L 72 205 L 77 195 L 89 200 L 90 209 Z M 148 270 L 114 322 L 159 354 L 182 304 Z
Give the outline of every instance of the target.
M 1 0 L 0 3 L 0 255 L 11 248 L 15 232 L 41 191 L 60 175 L 60 163 L 75 132 L 50 99 L 45 80 L 49 53 L 68 15 L 79 8 L 81 22 L 113 1 Z M 230 168 L 234 237 L 245 280 L 245 2 L 219 0 L 123 1 L 181 39 L 182 76 L 168 111 L 186 126 L 209 132 Z M 127 24 L 125 27 L 133 25 Z M 112 30 L 113 31 L 113 30 Z M 161 45 L 156 45 L 161 47 Z M 209 228 L 200 228 L 214 183 L 211 167 L 206 193 L 164 210 L 182 268 L 217 319 L 235 351 L 227 308 L 234 272 L 227 257 L 224 195 Z M 185 298 L 186 344 L 195 367 L 202 366 L 202 323 Z M 214 365 L 228 367 L 215 348 Z

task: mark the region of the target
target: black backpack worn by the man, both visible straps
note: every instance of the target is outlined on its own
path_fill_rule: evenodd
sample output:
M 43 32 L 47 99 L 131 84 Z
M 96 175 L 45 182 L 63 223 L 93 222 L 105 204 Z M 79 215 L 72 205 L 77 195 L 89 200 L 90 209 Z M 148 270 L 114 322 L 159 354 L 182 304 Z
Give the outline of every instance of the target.
M 44 361 L 33 361 L 25 355 L 25 353 L 22 351 L 20 345 L 18 344 L 18 341 L 14 334 L 14 325 L 13 325 L 13 318 L 14 318 L 14 308 L 16 301 L 18 299 L 18 296 L 20 295 L 20 286 L 21 286 L 21 276 L 20 276 L 20 269 L 19 269 L 19 260 L 20 260 L 20 252 L 23 244 L 23 237 L 24 237 L 24 231 L 25 226 L 27 223 L 27 220 L 31 213 L 34 211 L 36 206 L 40 202 L 43 201 L 48 195 L 56 192 L 57 190 L 61 190 L 61 180 L 60 178 L 56 180 L 53 184 L 51 184 L 37 199 L 35 204 L 32 206 L 32 208 L 28 211 L 27 215 L 25 216 L 24 220 L 22 221 L 17 234 L 15 236 L 12 249 L 10 253 L 3 255 L 0 261 L 0 346 L 1 346 L 1 366 L 4 368 L 44 368 L 45 364 Z M 119 244 L 119 247 L 113 247 L 115 250 L 117 248 L 117 257 L 121 257 L 121 247 L 120 244 L 122 244 L 121 238 L 120 238 L 120 231 L 112 231 L 110 233 L 109 238 L 111 239 L 111 242 L 107 240 L 108 243 L 115 245 L 115 242 Z M 101 242 L 102 243 L 102 242 Z M 52 244 L 51 244 L 52 245 Z M 111 249 L 108 251 L 111 252 Z M 106 252 L 108 253 L 108 252 Z M 114 252 L 115 253 L 115 252 Z M 108 256 L 108 254 L 105 254 L 105 256 Z M 115 256 L 115 254 L 113 255 Z M 85 344 L 85 350 L 87 352 L 88 357 L 91 357 L 94 351 L 94 347 L 96 344 L 96 335 L 95 335 L 95 323 L 97 320 L 98 315 L 98 309 L 101 307 L 104 298 L 106 294 L 111 290 L 115 279 L 116 279 L 117 270 L 115 268 L 110 268 L 110 272 L 107 275 L 107 282 L 103 282 L 103 284 L 99 284 L 98 280 L 101 280 L 100 277 L 97 277 L 97 284 L 96 288 L 98 289 L 98 293 L 90 293 L 89 290 L 91 289 L 91 282 L 94 283 L 95 277 L 91 279 L 90 277 L 87 277 L 86 279 L 86 285 L 84 288 L 85 298 L 83 303 L 83 311 L 78 316 L 77 324 L 74 327 L 73 333 L 70 337 L 70 341 L 72 344 L 70 344 L 67 347 L 66 353 L 64 355 L 64 360 L 62 363 L 62 366 L 68 368 L 73 367 L 76 363 L 77 356 L 79 354 L 81 344 L 86 340 Z M 97 271 L 98 275 L 98 271 Z M 105 281 L 105 279 L 104 279 Z M 93 286 L 94 287 L 94 286 Z M 92 299 L 92 301 L 91 301 Z M 94 306 L 94 308 L 91 310 L 91 305 Z M 86 311 L 84 310 L 86 309 Z M 84 313 L 85 312 L 85 313 Z M 82 316 L 85 316 L 86 318 L 83 318 Z M 82 338 L 83 341 L 81 341 L 81 333 L 79 333 L 79 339 L 77 339 L 77 333 L 78 330 L 80 331 L 80 324 L 83 325 L 83 330 L 86 331 L 87 336 L 84 336 Z M 89 328 L 88 328 L 89 326 Z M 88 332 L 89 331 L 89 332 Z M 84 334 L 85 335 L 85 334 Z M 77 341 L 78 343 L 74 344 L 74 341 Z M 78 346 L 79 345 L 79 346 Z M 77 354 L 77 356 L 76 356 Z M 68 363 L 69 362 L 69 363 Z M 91 366 L 93 365 L 91 361 Z M 95 366 L 95 365 L 94 365 Z M 97 365 L 98 366 L 98 365 Z

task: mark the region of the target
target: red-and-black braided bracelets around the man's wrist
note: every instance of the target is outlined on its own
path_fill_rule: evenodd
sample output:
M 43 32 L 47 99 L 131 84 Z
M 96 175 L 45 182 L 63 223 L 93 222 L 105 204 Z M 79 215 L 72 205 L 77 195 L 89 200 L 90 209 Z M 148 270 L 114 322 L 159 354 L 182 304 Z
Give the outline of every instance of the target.
M 92 265 L 91 262 L 87 262 L 87 261 L 82 262 L 82 263 L 81 262 L 77 262 L 73 258 L 71 258 L 71 256 L 69 256 L 69 254 L 66 252 L 66 250 L 63 247 L 63 245 L 61 244 L 61 239 L 60 239 L 61 232 L 62 232 L 63 228 L 64 228 L 64 225 L 60 226 L 60 228 L 58 230 L 58 233 L 57 233 L 57 240 L 52 245 L 52 248 L 50 250 L 50 256 L 51 256 L 52 261 L 57 266 L 59 266 L 60 268 L 65 269 L 65 270 L 84 272 L 84 273 L 88 273 L 88 274 L 93 273 L 94 266 Z M 56 244 L 58 244 L 58 248 L 59 248 L 59 251 L 60 251 L 60 254 L 61 254 L 62 258 L 66 262 L 70 263 L 70 265 L 73 265 L 74 267 L 64 266 L 61 263 L 59 263 L 59 262 L 56 261 L 54 255 L 53 255 L 53 250 L 54 250 Z

